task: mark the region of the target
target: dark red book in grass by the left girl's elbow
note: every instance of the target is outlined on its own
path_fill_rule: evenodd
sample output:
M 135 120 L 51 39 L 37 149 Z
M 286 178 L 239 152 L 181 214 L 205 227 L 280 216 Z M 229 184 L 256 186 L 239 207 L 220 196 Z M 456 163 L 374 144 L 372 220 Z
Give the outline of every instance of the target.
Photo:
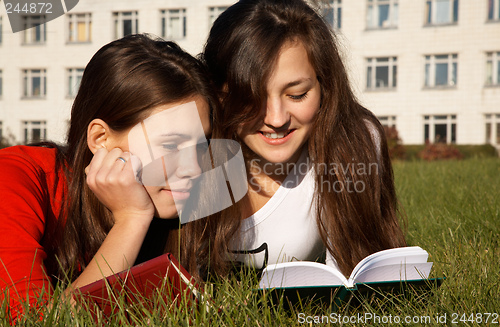
M 167 253 L 83 286 L 74 297 L 90 303 L 94 315 L 109 316 L 123 305 L 153 308 L 157 297 L 167 304 L 194 303 L 201 300 L 202 294 L 191 275 Z

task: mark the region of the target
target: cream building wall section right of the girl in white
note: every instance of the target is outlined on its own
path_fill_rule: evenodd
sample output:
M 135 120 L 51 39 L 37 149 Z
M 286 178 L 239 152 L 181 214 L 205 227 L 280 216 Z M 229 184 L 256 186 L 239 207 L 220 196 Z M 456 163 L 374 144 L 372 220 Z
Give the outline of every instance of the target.
M 342 3 L 339 34 L 354 89 L 377 116 L 396 116 L 404 143 L 424 142 L 425 115 L 456 115 L 456 143 L 484 144 L 485 114 L 500 113 L 500 88 L 485 86 L 486 52 L 500 51 L 500 23 L 487 22 L 487 0 L 460 0 L 456 24 L 427 26 L 425 5 L 400 0 L 397 27 L 367 29 L 367 1 Z M 426 88 L 425 56 L 440 54 L 457 54 L 457 84 Z M 393 56 L 397 86 L 367 90 L 366 59 Z

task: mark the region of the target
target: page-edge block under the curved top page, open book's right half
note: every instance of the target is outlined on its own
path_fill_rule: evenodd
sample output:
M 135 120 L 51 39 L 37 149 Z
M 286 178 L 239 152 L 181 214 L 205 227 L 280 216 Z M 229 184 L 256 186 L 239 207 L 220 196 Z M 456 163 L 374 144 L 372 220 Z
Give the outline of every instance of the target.
M 431 268 L 432 262 L 380 266 L 361 272 L 354 280 L 349 279 L 349 284 L 425 279 Z

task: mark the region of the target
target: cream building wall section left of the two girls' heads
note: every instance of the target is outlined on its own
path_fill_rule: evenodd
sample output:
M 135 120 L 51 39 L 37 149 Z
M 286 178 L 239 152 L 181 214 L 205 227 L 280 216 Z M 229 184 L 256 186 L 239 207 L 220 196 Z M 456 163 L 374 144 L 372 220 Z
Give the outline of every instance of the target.
M 23 33 L 12 33 L 4 5 L 0 5 L 0 122 L 2 136 L 24 139 L 23 121 L 46 121 L 46 138 L 64 142 L 73 97 L 68 97 L 68 68 L 84 68 L 92 55 L 115 39 L 113 12 L 137 11 L 138 32 L 161 36 L 162 9 L 185 8 L 187 35 L 175 40 L 191 54 L 199 53 L 208 35 L 209 7 L 228 6 L 228 0 L 85 0 L 69 14 L 91 13 L 91 41 L 68 43 L 68 15 L 46 23 L 44 44 L 23 44 Z M 47 92 L 43 98 L 23 98 L 23 69 L 46 69 Z

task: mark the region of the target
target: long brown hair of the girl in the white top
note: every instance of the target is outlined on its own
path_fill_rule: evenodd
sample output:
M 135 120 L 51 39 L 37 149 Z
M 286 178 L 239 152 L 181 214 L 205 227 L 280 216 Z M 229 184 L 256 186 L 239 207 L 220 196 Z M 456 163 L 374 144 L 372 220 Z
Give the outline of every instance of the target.
M 405 240 L 382 126 L 356 100 L 335 35 L 304 1 L 241 0 L 215 21 L 203 53 L 222 99 L 213 133 L 242 143 L 238 126 L 259 115 L 280 50 L 294 41 L 305 46 L 321 85 L 321 106 L 308 142 L 316 174 L 317 224 L 327 250 L 347 275 L 365 256 L 404 246 Z M 332 173 L 332 164 L 344 169 Z M 360 165 L 368 169 L 373 164 L 376 171 L 359 171 Z M 332 191 L 339 183 L 358 183 L 364 189 Z M 205 222 L 206 255 L 218 273 L 227 271 L 224 261 L 240 225 L 239 206 Z

